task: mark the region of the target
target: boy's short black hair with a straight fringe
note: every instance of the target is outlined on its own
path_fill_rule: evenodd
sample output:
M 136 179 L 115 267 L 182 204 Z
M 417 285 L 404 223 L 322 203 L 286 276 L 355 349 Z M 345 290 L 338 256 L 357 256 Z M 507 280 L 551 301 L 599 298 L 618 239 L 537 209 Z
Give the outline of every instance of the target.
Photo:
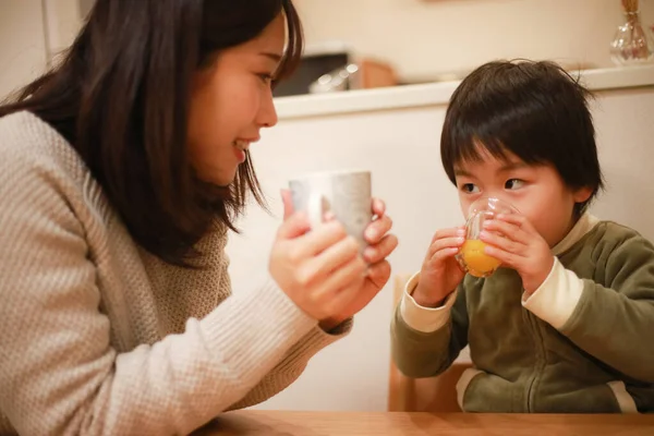
M 549 61 L 494 61 L 468 75 L 455 90 L 443 126 L 440 157 L 455 181 L 455 166 L 510 152 L 526 164 L 550 164 L 571 189 L 603 189 L 592 94 Z

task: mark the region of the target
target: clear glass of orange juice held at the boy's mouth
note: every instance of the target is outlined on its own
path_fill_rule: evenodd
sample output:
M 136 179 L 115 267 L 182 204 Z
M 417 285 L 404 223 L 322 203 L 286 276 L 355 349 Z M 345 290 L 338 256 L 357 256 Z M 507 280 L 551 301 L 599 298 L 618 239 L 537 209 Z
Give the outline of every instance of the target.
M 484 253 L 486 243 L 480 240 L 484 221 L 499 214 L 513 214 L 518 210 L 499 198 L 483 197 L 470 205 L 465 221 L 465 242 L 461 246 L 457 261 L 463 269 L 475 277 L 488 277 L 500 266 L 495 257 Z

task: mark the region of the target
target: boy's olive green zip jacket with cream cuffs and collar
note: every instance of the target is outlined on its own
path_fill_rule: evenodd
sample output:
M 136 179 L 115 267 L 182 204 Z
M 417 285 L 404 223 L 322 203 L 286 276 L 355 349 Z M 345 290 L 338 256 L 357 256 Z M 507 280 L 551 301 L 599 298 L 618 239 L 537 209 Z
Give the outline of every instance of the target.
M 407 286 L 391 325 L 392 356 L 410 377 L 436 376 L 470 347 L 458 383 L 469 412 L 654 412 L 654 246 L 584 215 L 553 249 L 531 296 L 500 268 L 467 276 L 443 307 Z

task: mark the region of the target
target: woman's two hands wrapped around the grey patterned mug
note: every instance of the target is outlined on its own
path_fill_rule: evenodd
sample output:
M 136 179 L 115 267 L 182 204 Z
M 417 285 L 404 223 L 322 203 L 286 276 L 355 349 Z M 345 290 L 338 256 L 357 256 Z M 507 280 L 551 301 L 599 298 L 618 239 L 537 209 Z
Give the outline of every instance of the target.
M 340 222 L 330 220 L 308 232 L 308 220 L 293 213 L 290 194 L 282 192 L 282 198 L 284 221 L 270 254 L 270 275 L 300 308 L 329 330 L 365 307 L 388 281 L 386 257 L 398 244 L 388 234 L 392 221 L 384 202 L 374 199 L 376 219 L 365 230 L 370 245 L 362 258 L 359 243 Z

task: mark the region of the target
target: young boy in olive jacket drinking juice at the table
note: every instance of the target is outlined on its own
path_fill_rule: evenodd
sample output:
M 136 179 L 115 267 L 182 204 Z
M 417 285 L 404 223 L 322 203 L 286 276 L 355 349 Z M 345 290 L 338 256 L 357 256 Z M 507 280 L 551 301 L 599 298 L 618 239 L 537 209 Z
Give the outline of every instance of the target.
M 512 204 L 482 233 L 502 263 L 465 276 L 462 228 L 436 232 L 391 326 L 410 377 L 470 346 L 469 412 L 654 412 L 654 246 L 586 211 L 602 189 L 589 93 L 550 62 L 492 62 L 447 110 L 440 153 L 461 208 Z

